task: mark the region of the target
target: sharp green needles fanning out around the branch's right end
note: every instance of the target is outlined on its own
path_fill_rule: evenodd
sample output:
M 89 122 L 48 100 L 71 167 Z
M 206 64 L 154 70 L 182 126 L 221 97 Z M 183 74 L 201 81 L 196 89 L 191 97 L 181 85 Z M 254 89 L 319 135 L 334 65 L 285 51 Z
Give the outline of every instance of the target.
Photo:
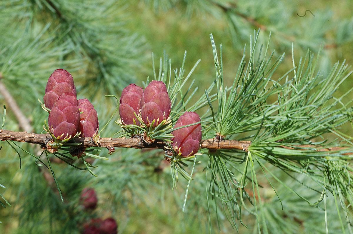
M 334 97 L 334 93 L 352 73 L 349 70 L 350 67 L 344 63 L 341 66 L 336 63 L 327 76 L 320 76 L 316 72 L 317 60 L 314 61 L 308 51 L 304 60 L 300 58 L 298 67 L 295 66 L 293 55 L 294 68 L 274 81 L 271 77 L 283 55 L 270 66 L 269 70 L 266 70 L 270 59 L 261 59 L 260 56 L 256 56 L 257 60 L 254 59 L 257 37 L 258 33 L 255 34 L 254 43 L 250 46 L 249 62 L 247 63 L 243 56 L 233 85 L 227 88 L 223 87 L 222 52 L 219 60 L 211 35 L 218 90 L 218 111 L 214 119 L 217 119 L 219 124 L 215 122 L 214 131 L 219 137 L 231 139 L 234 134 L 251 131 L 255 133 L 247 136 L 251 144 L 243 160 L 239 157 L 241 154 L 238 153 L 234 155 L 234 158 L 229 152 L 222 155 L 222 150 L 216 154 L 209 153 L 209 167 L 212 175 L 211 194 L 215 193 L 214 199 L 219 197 L 220 201 L 226 205 L 224 209 L 228 211 L 228 217 L 235 227 L 237 227 L 235 219 L 239 219 L 243 225 L 246 225 L 241 216 L 244 208 L 257 217 L 259 232 L 262 230 L 268 233 L 260 195 L 261 185 L 259 185 L 258 173 L 256 173 L 256 170 L 261 168 L 275 192 L 273 182 L 267 174 L 286 187 L 288 192 L 299 196 L 309 205 L 317 207 L 323 200 L 326 204 L 325 196 L 328 192 L 334 196 L 335 201 L 338 197 L 342 209 L 347 214 L 349 227 L 349 205 L 346 204 L 352 202 L 352 187 L 349 182 L 352 168 L 349 165 L 351 156 L 346 154 L 352 153 L 353 148 L 351 138 L 343 136 L 338 129 L 343 124 L 349 123 L 350 116 L 352 116 L 351 101 L 346 104 L 341 102 L 352 91 L 352 88 L 339 97 Z M 258 51 L 261 55 L 262 47 Z M 267 49 L 264 54 L 267 54 Z M 269 58 L 272 56 L 273 53 Z M 244 71 L 246 66 L 247 69 Z M 293 78 L 289 78 L 292 72 Z M 244 78 L 242 78 L 243 75 Z M 282 79 L 285 81 L 282 82 Z M 272 84 L 269 84 L 270 82 Z M 268 103 L 271 96 L 277 96 L 276 103 Z M 339 138 L 330 142 L 325 136 L 328 133 Z M 318 137 L 323 141 L 317 141 Z M 282 178 L 277 177 L 268 169 L 263 160 L 280 168 L 300 184 L 303 182 L 295 179 L 295 176 L 289 174 L 290 172 L 304 174 L 311 178 L 322 189 L 318 201 L 311 202 L 287 186 Z M 237 180 L 232 170 L 236 168 L 235 170 L 239 172 L 237 164 L 241 163 L 245 164 L 244 171 L 240 180 Z M 258 165 L 255 166 L 255 163 Z M 247 180 L 250 180 L 252 185 L 252 201 L 245 190 Z M 254 211 L 248 208 L 244 197 L 247 197 L 249 202 L 255 206 Z M 239 199 L 241 202 L 238 201 Z M 337 207 L 338 212 L 339 210 Z M 344 232 L 344 224 L 341 218 L 339 220 L 342 232 Z

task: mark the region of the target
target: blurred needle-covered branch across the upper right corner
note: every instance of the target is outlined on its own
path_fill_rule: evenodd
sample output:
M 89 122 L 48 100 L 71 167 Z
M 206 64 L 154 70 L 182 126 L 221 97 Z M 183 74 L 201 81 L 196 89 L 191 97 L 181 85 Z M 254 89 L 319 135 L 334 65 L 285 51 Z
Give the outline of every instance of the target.
M 321 1 L 304 1 L 305 4 L 301 1 L 289 0 L 236 2 L 232 0 L 145 0 L 145 2 L 150 3 L 156 13 L 172 9 L 189 18 L 201 15 L 204 19 L 222 19 L 228 26 L 234 48 L 238 50 L 241 50 L 244 43 L 249 41 L 252 31 L 259 28 L 264 32 L 258 38 L 259 42 L 266 44 L 268 36 L 272 34 L 273 43 L 270 48 L 275 48 L 277 51 L 289 52 L 292 42 L 295 43 L 296 49 L 302 51 L 309 48 L 317 53 L 323 47 L 324 56 L 319 63 L 322 73 L 328 73 L 328 67 L 335 62 L 336 57 L 342 59 L 342 48 L 353 42 L 351 16 L 342 19 L 340 13 L 333 12 L 331 9 L 334 8 L 334 4 L 323 4 Z M 344 7 L 350 8 L 351 2 L 342 5 L 342 8 Z M 310 10 L 313 14 L 306 10 Z M 304 13 L 306 13 L 305 17 L 301 17 Z

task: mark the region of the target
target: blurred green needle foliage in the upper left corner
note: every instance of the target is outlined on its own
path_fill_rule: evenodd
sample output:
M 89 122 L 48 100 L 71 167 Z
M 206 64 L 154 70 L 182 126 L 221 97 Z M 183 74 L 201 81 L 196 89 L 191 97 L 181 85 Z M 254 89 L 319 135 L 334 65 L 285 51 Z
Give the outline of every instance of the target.
M 18 63 L 22 65 L 24 61 L 32 62 L 36 66 L 41 65 L 36 69 L 31 68 L 30 64 L 29 66 L 19 67 L 18 63 L 17 66 L 14 63 L 12 69 L 16 70 L 17 73 L 21 70 L 19 68 L 25 69 L 26 73 L 30 71 L 29 69 L 40 71 L 42 72 L 41 75 L 45 74 L 42 79 L 45 82 L 44 78 L 47 78 L 50 71 L 55 68 L 64 67 L 72 72 L 74 68 L 77 68 L 74 63 L 79 62 L 80 64 L 77 64 L 80 68 L 78 73 L 80 75 L 79 83 L 83 85 L 83 90 L 91 97 L 98 91 L 98 88 L 100 88 L 100 91 L 114 94 L 122 90 L 131 79 L 134 79 L 132 71 L 139 66 L 138 60 L 135 59 L 142 57 L 141 49 L 144 48 L 144 42 L 137 35 L 124 29 L 121 19 L 124 18 L 125 13 L 123 13 L 124 7 L 121 3 L 113 0 L 9 0 L 2 5 L 6 9 L 13 9 L 13 12 L 4 12 L 9 21 L 19 17 L 19 10 L 27 12 L 23 15 L 20 14 L 20 24 L 15 21 L 15 23 L 9 22 L 6 25 L 5 31 L 9 34 L 13 31 L 25 30 L 23 35 L 18 35 L 20 41 L 12 45 L 7 53 L 11 56 L 17 55 Z M 105 26 L 102 27 L 101 25 Z M 35 37 L 32 40 L 33 42 L 30 38 L 27 38 L 38 34 L 40 36 Z M 52 42 L 54 38 L 55 42 L 52 43 L 54 49 L 46 49 L 45 46 Z M 40 43 L 36 43 L 39 39 L 41 39 Z M 21 40 L 27 40 L 28 42 Z M 12 42 L 8 41 L 8 43 L 13 44 Z M 20 50 L 17 47 L 26 48 L 29 51 Z M 36 48 L 40 48 L 40 50 Z M 35 57 L 35 59 L 26 58 L 28 56 Z M 54 60 L 51 60 L 51 57 Z M 64 59 L 65 62 L 58 64 L 58 58 Z M 3 61 L 6 62 L 6 60 Z M 46 64 L 49 61 L 54 64 Z M 11 60 L 11 62 L 14 61 Z M 45 71 L 43 68 L 48 70 Z M 82 75 L 82 73 L 85 75 Z M 6 77 L 5 75 L 4 77 Z M 16 79 L 22 77 L 18 75 L 23 74 L 13 74 Z M 38 75 L 30 74 L 25 77 L 33 79 L 37 78 Z M 8 79 L 10 80 L 11 77 Z M 86 85 L 89 86 L 86 87 Z

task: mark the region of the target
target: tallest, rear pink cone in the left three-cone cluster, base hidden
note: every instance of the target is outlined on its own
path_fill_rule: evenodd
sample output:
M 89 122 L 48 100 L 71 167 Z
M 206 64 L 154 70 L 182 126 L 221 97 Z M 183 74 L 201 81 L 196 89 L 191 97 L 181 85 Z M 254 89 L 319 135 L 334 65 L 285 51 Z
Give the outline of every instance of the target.
M 72 75 L 67 70 L 56 69 L 45 87 L 44 105 L 51 110 L 62 93 L 72 93 L 76 96 L 76 87 Z

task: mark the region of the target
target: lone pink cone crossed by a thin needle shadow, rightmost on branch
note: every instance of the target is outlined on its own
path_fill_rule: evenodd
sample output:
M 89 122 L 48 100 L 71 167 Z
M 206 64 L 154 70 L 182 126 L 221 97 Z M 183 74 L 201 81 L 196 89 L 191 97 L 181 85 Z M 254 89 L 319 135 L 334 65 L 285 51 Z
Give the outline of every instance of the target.
M 182 116 L 179 117 L 174 128 L 183 127 L 185 125 L 193 124 L 200 122 L 200 116 L 195 112 L 185 112 Z M 181 156 L 187 157 L 197 153 L 200 148 L 201 143 L 201 124 L 194 124 L 189 127 L 180 128 L 172 132 L 174 138 L 173 148 L 174 151 L 181 153 Z

